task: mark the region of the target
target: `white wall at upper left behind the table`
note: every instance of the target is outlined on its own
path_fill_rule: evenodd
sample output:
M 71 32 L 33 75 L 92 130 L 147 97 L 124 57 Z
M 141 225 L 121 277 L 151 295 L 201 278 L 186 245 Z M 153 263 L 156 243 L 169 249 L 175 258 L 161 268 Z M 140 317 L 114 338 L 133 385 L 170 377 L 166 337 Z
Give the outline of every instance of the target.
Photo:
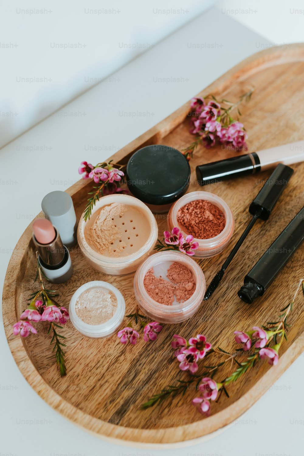
M 213 3 L 1 2 L 0 147 Z

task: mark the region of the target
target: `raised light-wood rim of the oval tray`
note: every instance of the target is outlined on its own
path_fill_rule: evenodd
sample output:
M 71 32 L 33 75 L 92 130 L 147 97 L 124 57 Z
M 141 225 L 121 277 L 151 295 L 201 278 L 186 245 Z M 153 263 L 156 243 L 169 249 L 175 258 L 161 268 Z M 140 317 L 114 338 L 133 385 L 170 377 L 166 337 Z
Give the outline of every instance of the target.
M 217 78 L 208 87 L 203 89 L 197 96 L 206 96 L 216 88 L 218 91 L 225 90 L 229 81 L 233 83 L 242 79 L 246 73 L 254 74 L 268 66 L 276 66 L 287 62 L 304 61 L 304 43 L 293 43 L 284 45 L 280 48 L 268 48 L 263 51 L 252 54 L 250 57 L 239 62 L 228 72 Z M 167 116 L 158 124 L 147 130 L 135 140 L 125 145 L 122 149 L 112 155 L 110 159 L 119 161 L 125 159 L 135 150 L 159 140 L 179 124 L 189 112 L 189 101 L 183 104 L 175 112 Z M 75 193 L 82 190 L 88 185 L 88 181 L 80 179 L 66 192 L 72 197 Z M 37 217 L 43 214 L 40 212 Z M 190 446 L 199 443 L 206 438 L 217 434 L 220 430 L 234 420 L 239 418 L 247 409 L 249 409 L 268 388 L 283 374 L 283 372 L 294 362 L 296 358 L 304 351 L 304 332 L 294 340 L 289 348 L 280 356 L 280 362 L 275 368 L 269 368 L 268 371 L 258 380 L 255 387 L 247 391 L 240 399 L 228 405 L 225 409 L 212 415 L 204 420 L 199 420 L 191 424 L 175 426 L 164 429 L 137 429 L 120 425 L 114 425 L 107 421 L 99 420 L 86 412 L 77 409 L 60 394 L 55 392 L 50 385 L 41 377 L 36 370 L 31 358 L 28 357 L 21 337 L 15 337 L 12 334 L 11 326 L 15 323 L 16 310 L 16 279 L 20 269 L 21 259 L 26 253 L 27 246 L 31 239 L 31 225 L 29 225 L 21 235 L 14 251 L 11 255 L 3 286 L 2 295 L 2 313 L 5 335 L 7 338 L 10 351 L 15 363 L 21 371 L 26 381 L 36 391 L 36 393 L 53 409 L 61 413 L 65 418 L 72 421 L 75 425 L 83 430 L 113 443 L 125 446 L 139 446 L 141 448 L 169 448 Z M 12 294 L 10 290 L 15 290 Z M 267 388 L 266 388 L 267 387 Z M 140 413 L 140 412 L 139 412 Z M 203 425 L 202 425 L 203 423 Z

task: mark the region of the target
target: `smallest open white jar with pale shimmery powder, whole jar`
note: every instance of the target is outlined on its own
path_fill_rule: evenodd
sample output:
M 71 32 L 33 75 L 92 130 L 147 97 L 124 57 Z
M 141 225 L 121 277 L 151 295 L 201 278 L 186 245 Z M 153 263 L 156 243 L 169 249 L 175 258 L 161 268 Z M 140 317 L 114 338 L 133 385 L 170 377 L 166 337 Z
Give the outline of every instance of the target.
M 124 297 L 107 282 L 88 282 L 72 295 L 69 314 L 73 326 L 84 336 L 109 337 L 124 319 Z

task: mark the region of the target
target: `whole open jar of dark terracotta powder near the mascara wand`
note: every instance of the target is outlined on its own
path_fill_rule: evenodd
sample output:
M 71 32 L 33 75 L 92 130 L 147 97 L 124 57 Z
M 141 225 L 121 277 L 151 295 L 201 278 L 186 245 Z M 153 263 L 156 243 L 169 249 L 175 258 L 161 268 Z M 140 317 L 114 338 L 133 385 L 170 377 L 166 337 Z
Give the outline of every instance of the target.
M 222 252 L 234 231 L 230 207 L 217 195 L 209 192 L 191 192 L 181 197 L 168 214 L 170 231 L 180 228 L 191 234 L 198 243 L 196 258 L 210 258 Z

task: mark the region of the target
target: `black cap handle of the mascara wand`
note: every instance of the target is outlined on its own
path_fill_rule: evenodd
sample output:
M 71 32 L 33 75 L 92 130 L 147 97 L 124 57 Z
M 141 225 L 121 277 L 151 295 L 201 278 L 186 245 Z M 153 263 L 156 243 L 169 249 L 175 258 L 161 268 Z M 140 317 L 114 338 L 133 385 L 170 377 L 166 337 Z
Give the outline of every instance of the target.
M 279 163 L 249 206 L 251 215 L 259 213 L 259 218 L 267 220 L 279 196 L 289 182 L 294 170 Z

